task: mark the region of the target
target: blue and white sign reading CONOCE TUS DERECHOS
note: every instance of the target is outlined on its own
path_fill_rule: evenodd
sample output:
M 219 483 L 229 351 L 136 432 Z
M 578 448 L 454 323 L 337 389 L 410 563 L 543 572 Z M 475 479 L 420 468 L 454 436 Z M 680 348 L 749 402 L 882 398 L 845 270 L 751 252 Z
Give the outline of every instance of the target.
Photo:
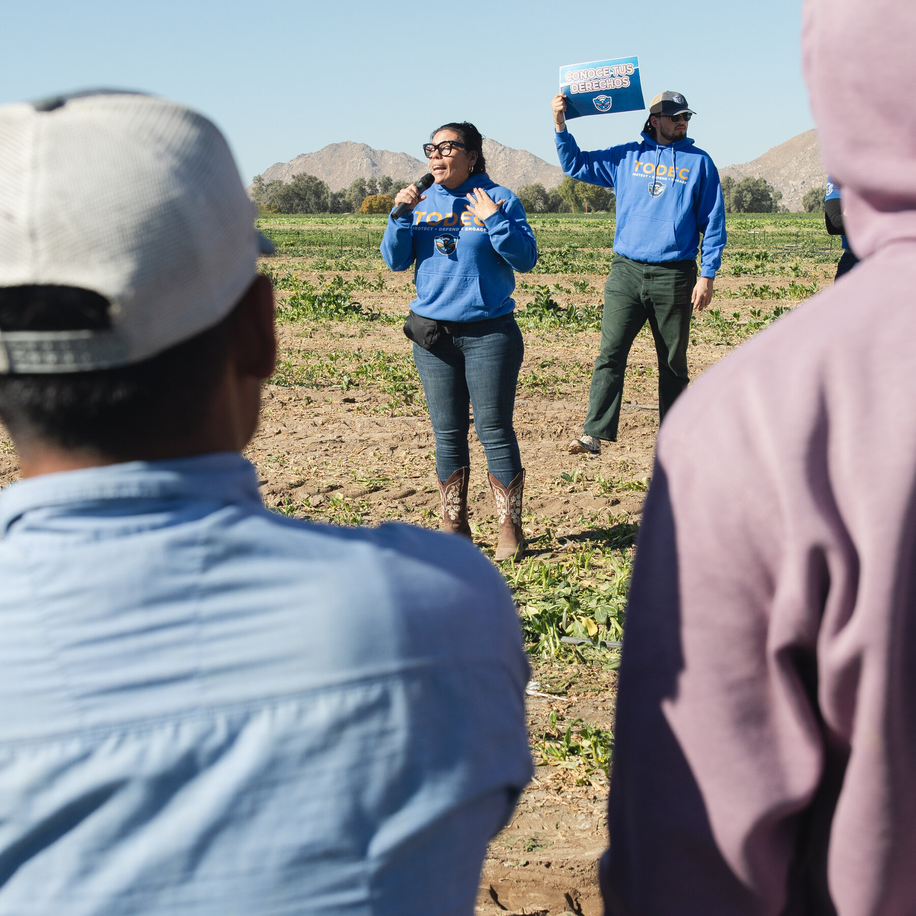
M 639 82 L 639 59 L 593 60 L 560 68 L 566 119 L 588 114 L 636 112 L 646 107 Z

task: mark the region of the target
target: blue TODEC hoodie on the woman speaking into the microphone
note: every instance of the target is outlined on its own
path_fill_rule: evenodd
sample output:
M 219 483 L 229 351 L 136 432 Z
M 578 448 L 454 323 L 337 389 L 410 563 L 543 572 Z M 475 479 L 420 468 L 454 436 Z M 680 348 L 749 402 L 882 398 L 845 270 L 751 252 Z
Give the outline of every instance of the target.
M 483 222 L 465 196 L 483 188 L 501 204 Z M 412 213 L 388 217 L 381 252 L 392 270 L 414 267 L 410 311 L 441 322 L 479 322 L 515 309 L 514 270 L 538 263 L 538 245 L 518 197 L 485 174 L 453 191 L 434 184 Z

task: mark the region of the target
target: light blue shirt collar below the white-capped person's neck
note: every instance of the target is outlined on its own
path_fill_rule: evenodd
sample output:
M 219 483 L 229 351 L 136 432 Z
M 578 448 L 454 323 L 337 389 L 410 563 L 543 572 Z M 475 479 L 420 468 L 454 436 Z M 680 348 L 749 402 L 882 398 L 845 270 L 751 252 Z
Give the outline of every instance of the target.
M 256 502 L 257 475 L 240 454 L 221 452 L 173 461 L 134 461 L 40 474 L 0 492 L 0 537 L 25 513 L 105 499 L 211 499 Z

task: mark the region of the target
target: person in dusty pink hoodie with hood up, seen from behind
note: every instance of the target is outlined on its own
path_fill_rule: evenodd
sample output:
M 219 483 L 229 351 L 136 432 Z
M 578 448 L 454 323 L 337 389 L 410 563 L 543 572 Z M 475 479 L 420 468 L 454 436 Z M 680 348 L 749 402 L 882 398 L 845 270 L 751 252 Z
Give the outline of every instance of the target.
M 916 913 L 916 4 L 807 0 L 856 271 L 661 429 L 620 671 L 607 912 Z

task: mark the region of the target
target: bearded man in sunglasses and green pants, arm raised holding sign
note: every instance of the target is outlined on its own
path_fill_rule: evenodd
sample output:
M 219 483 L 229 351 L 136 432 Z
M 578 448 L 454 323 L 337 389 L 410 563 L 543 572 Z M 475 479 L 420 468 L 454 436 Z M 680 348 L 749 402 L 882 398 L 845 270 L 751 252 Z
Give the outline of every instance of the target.
M 563 171 L 614 188 L 617 199 L 601 352 L 594 362 L 583 435 L 569 447 L 572 454 L 597 455 L 602 439 L 616 442 L 627 356 L 646 322 L 659 356 L 660 420 L 687 387 L 692 310 L 703 311 L 713 298 L 725 248 L 725 202 L 712 158 L 687 136 L 694 113 L 681 93 L 652 99 L 641 140 L 591 153 L 583 153 L 566 129 L 566 96 L 558 93 L 552 107 Z

